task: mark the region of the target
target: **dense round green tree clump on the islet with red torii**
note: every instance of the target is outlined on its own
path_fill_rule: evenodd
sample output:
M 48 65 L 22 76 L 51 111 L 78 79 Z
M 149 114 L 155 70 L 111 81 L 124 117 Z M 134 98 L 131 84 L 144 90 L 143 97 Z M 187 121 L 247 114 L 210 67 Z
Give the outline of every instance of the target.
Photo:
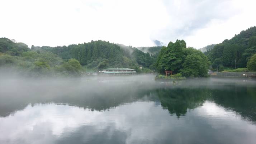
M 208 67 L 208 58 L 199 50 L 186 48 L 184 40 L 176 40 L 163 47 L 156 61 L 156 68 L 160 73 L 169 70 L 181 72 L 186 77 L 205 77 Z

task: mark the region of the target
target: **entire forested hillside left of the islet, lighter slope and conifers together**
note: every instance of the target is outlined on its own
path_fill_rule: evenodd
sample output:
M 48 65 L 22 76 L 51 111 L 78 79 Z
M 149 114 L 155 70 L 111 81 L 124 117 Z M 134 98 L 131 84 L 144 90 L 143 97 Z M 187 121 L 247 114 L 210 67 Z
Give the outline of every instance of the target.
M 0 38 L 0 66 L 14 67 L 32 75 L 79 75 L 86 69 L 97 71 L 109 67 L 154 69 L 156 55 L 131 46 L 102 40 L 62 47 L 35 47 Z M 82 67 L 83 66 L 83 67 Z

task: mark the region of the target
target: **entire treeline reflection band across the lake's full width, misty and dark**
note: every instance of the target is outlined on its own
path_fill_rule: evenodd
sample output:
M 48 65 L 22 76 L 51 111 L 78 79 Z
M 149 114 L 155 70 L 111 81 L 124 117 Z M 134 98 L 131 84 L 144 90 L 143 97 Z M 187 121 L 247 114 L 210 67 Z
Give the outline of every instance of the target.
M 78 106 L 104 111 L 136 101 L 161 103 L 180 117 L 190 109 L 213 101 L 256 122 L 256 89 L 251 81 L 199 79 L 158 82 L 153 76 L 92 77 L 62 80 L 3 80 L 0 83 L 0 116 L 23 110 L 28 104 Z M 143 109 L 143 107 L 142 107 Z

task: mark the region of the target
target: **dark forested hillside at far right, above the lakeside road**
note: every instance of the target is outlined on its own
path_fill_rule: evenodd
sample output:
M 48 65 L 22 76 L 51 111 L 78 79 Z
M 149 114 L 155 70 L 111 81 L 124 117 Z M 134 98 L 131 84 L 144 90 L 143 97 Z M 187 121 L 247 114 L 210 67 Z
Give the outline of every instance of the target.
M 256 27 L 243 30 L 232 39 L 216 44 L 207 56 L 212 61 L 213 68 L 243 68 L 253 54 L 256 53 Z

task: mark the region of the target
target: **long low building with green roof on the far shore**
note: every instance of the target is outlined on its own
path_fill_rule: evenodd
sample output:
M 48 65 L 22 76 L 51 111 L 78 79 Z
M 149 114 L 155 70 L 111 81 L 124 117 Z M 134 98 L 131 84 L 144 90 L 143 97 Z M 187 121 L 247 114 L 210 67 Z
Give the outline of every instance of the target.
M 133 75 L 136 71 L 131 68 L 106 68 L 99 71 L 99 73 L 105 75 Z

